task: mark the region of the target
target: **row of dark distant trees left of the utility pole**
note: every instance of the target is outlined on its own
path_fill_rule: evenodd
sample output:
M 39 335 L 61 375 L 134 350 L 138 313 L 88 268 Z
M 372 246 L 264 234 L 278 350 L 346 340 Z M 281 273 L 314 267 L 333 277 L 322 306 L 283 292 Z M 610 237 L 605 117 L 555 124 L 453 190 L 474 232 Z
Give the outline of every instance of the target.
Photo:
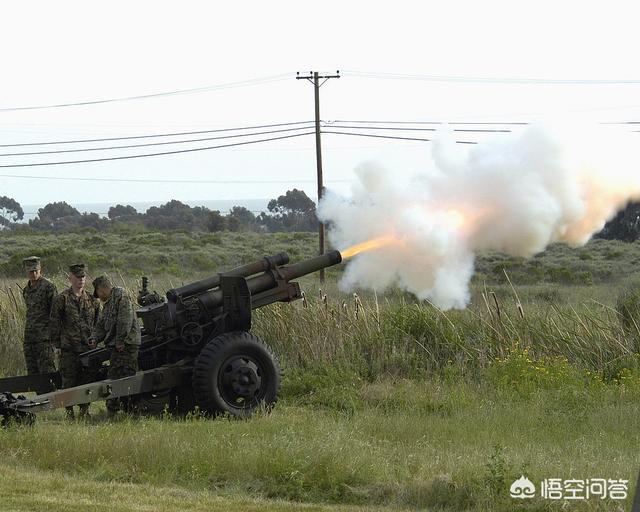
M 22 223 L 24 211 L 20 203 L 10 197 L 0 196 L 0 230 L 70 231 L 94 228 L 107 231 L 127 226 L 160 231 L 317 230 L 316 205 L 302 190 L 287 190 L 284 195 L 271 199 L 267 210 L 255 215 L 244 206 L 234 206 L 223 214 L 219 210 L 192 207 L 173 199 L 161 206 L 152 206 L 144 213 L 131 205 L 117 204 L 109 208 L 105 218 L 97 213 L 80 213 L 65 201 L 59 201 L 39 208 L 34 219 Z

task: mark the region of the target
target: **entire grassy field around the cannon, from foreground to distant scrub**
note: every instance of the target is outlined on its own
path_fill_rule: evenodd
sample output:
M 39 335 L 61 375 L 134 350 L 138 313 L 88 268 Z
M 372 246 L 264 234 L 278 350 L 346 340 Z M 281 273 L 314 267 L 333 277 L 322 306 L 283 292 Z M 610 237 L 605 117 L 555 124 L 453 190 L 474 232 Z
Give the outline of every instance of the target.
M 88 241 L 97 235 L 64 236 L 75 237 L 66 241 L 74 257 L 98 258 Z M 119 254 L 115 275 L 135 289 L 146 267 L 127 259 L 128 235 L 100 236 L 111 247 L 104 254 Z M 200 236 L 211 235 L 161 234 L 157 246 L 142 246 L 169 258 L 165 271 L 150 267 L 154 288 L 211 272 L 175 245 Z M 217 236 L 195 251 L 227 266 L 290 246 L 298 259 L 315 248 L 306 234 Z M 23 371 L 24 308 L 15 284 L 22 279 L 7 269 L 63 242 L 0 236 L 0 374 Z M 50 257 L 57 254 L 62 268 L 56 251 Z M 305 278 L 306 305 L 255 315 L 254 332 L 285 368 L 271 414 L 109 422 L 94 406 L 90 423 L 67 423 L 59 411 L 42 415 L 33 428 L 0 431 L 0 508 L 629 510 L 640 468 L 639 257 L 637 244 L 606 241 L 553 246 L 532 261 L 483 255 L 472 303 L 449 312 L 400 291 L 342 293 L 339 271 L 322 290 Z M 96 271 L 114 273 L 99 261 Z M 61 288 L 63 276 L 51 273 Z M 509 486 L 523 474 L 536 484 L 628 479 L 630 498 L 514 500 Z

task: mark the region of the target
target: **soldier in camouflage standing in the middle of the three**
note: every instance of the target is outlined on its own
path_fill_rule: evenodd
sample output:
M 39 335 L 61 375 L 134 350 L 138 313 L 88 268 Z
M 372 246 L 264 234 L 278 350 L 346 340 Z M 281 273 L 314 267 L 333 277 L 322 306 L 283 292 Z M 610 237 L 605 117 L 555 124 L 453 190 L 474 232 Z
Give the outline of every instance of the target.
M 51 308 L 51 341 L 61 350 L 60 376 L 62 387 L 70 388 L 91 382 L 93 375 L 83 371 L 79 355 L 95 343 L 91 332 L 100 312 L 100 302 L 85 290 L 87 266 L 78 263 L 69 267 L 71 286 L 58 295 Z M 89 416 L 89 404 L 80 404 L 80 417 Z M 72 419 L 73 406 L 67 407 L 67 417 Z

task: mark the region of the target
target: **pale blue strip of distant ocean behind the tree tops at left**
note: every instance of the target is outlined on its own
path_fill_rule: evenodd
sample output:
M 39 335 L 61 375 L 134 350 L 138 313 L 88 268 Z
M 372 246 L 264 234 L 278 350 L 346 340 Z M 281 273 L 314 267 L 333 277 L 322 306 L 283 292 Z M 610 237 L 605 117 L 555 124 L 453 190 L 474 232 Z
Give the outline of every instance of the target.
M 168 201 L 140 201 L 140 202 L 122 202 L 120 204 L 133 206 L 138 213 L 144 213 L 152 206 L 160 206 L 161 204 L 167 203 Z M 182 201 L 185 204 L 188 204 L 191 207 L 194 206 L 205 206 L 210 210 L 220 210 L 222 214 L 227 213 L 234 206 L 244 206 L 246 209 L 251 210 L 253 213 L 258 215 L 260 212 L 267 211 L 267 204 L 269 203 L 269 199 L 220 199 L 220 200 L 189 200 Z M 109 208 L 111 206 L 115 206 L 118 204 L 118 201 L 113 203 L 69 203 L 75 209 L 77 209 L 80 213 L 97 213 L 102 217 L 106 217 L 109 212 Z M 34 219 L 38 216 L 38 209 L 42 208 L 43 204 L 37 205 L 22 205 L 22 209 L 24 210 L 24 222 L 28 222 L 30 219 Z

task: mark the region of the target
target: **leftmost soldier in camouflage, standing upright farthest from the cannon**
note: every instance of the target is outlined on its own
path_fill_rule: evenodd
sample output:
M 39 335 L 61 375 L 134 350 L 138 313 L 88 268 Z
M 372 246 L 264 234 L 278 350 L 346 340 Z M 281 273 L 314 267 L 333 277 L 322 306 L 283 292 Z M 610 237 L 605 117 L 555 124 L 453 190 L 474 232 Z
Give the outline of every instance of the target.
M 22 290 L 27 305 L 24 326 L 24 359 L 27 374 L 55 372 L 53 347 L 49 338 L 51 304 L 58 291 L 48 279 L 42 277 L 40 258 L 31 256 L 22 260 L 29 281 Z

